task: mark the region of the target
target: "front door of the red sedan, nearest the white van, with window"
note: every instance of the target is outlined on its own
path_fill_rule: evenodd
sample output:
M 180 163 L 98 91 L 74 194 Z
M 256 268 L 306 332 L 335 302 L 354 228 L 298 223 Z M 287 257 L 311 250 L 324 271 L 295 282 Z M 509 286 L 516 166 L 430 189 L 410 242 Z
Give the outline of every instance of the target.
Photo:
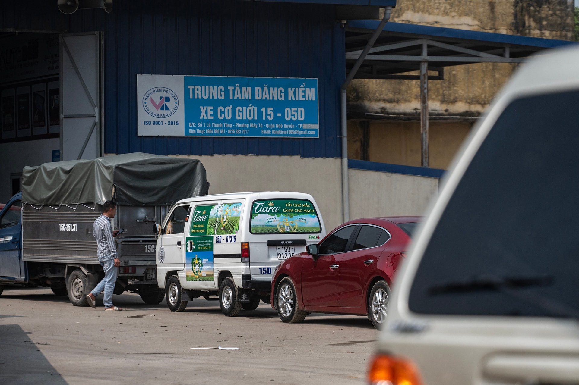
M 338 228 L 320 243 L 320 256 L 302 266 L 302 300 L 306 306 L 339 306 L 338 266 L 356 225 Z

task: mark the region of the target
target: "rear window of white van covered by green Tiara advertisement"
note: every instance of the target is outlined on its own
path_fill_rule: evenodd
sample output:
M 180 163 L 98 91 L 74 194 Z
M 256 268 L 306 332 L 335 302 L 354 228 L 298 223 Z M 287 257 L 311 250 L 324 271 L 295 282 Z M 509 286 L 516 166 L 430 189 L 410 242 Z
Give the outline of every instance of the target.
M 320 220 L 312 202 L 306 199 L 255 201 L 251 207 L 251 234 L 321 232 Z

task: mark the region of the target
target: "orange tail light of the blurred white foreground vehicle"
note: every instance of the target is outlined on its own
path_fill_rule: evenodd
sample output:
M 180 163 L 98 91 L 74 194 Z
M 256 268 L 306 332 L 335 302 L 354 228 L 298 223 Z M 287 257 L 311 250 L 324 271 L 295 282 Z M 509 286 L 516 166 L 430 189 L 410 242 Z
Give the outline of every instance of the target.
M 406 358 L 378 355 L 368 373 L 372 385 L 422 385 L 416 365 Z

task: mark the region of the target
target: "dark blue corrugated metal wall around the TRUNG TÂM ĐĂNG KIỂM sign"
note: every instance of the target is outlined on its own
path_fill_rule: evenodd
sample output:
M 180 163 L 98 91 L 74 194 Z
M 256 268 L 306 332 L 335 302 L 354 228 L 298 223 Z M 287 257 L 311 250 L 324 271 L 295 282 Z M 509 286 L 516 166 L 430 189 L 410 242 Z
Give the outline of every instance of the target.
M 70 32 L 105 32 L 107 153 L 340 156 L 339 86 L 345 79 L 345 41 L 343 29 L 332 20 L 332 6 L 142 0 L 115 2 L 109 14 L 95 9 L 65 16 L 56 1 L 28 2 L 35 6 L 25 17 L 18 3 L 9 4 L 0 28 L 61 26 Z M 138 73 L 317 77 L 320 138 L 137 136 Z

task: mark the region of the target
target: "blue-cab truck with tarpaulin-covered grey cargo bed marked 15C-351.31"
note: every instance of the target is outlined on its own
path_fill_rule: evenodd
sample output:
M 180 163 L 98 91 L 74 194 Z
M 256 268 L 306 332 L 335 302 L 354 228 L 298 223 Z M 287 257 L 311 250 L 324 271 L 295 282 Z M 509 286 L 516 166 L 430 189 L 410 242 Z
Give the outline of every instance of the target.
M 198 160 L 123 154 L 25 167 L 22 193 L 0 211 L 0 294 L 6 284 L 50 287 L 86 306 L 86 294 L 104 277 L 97 259 L 94 220 L 113 199 L 120 259 L 115 294 L 163 301 L 157 286 L 156 224 L 173 202 L 207 194 Z

